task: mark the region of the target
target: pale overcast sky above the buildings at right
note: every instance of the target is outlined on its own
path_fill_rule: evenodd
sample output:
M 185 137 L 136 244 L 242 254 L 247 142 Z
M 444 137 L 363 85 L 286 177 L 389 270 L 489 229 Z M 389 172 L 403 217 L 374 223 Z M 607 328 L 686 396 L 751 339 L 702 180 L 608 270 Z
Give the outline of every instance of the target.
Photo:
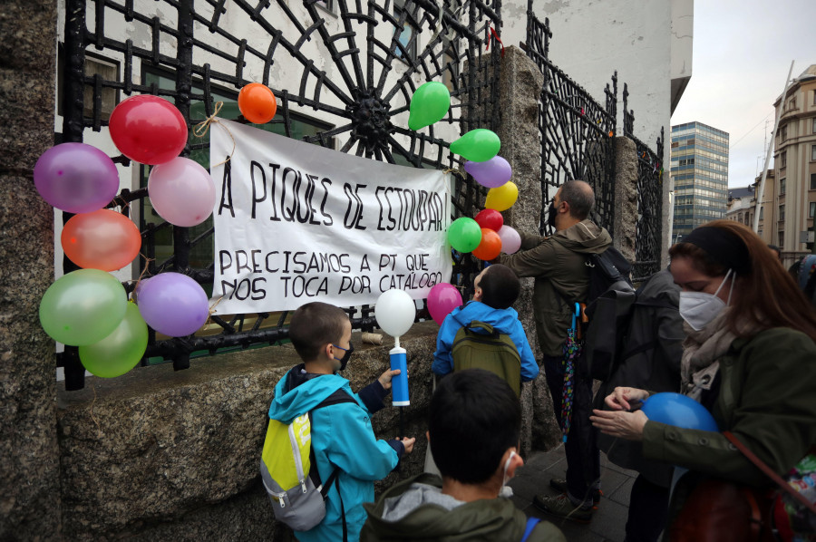
M 792 78 L 816 64 L 816 0 L 695 0 L 692 77 L 672 124 L 728 132 L 729 187 L 746 187 L 762 171 L 773 102 L 792 61 Z

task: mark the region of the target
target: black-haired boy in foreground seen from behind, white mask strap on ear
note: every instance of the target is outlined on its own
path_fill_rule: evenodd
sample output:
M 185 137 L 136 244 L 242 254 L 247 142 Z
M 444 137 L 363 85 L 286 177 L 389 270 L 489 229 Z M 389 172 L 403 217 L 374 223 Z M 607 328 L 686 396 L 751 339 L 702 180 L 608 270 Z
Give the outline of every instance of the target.
M 565 542 L 549 521 L 527 518 L 504 484 L 524 464 L 519 450 L 521 405 L 510 385 L 483 369 L 444 378 L 433 392 L 428 440 L 442 472 L 393 486 L 368 512 L 361 542 L 527 540 Z

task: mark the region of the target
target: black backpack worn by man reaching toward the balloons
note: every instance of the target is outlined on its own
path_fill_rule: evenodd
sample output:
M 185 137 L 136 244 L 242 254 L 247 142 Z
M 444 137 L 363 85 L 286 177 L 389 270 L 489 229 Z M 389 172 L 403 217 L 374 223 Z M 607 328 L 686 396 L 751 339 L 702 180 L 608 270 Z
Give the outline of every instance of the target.
M 621 344 L 627 334 L 635 288 L 629 279 L 629 263 L 615 247 L 589 255 L 589 292 L 584 324 L 581 373 L 607 380 L 619 363 Z

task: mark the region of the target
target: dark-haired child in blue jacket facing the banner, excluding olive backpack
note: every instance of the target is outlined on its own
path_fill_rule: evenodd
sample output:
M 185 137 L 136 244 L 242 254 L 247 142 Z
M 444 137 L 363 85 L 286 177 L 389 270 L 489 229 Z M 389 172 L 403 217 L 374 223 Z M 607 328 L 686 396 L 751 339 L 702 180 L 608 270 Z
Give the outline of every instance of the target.
M 452 310 L 445 317 L 436 336 L 436 352 L 433 353 L 433 373 L 443 376 L 453 371 L 453 339 L 459 329 L 478 320 L 491 324 L 495 331 L 510 335 L 521 358 L 521 380 L 527 382 L 539 374 L 539 364 L 533 356 L 519 321 L 519 314 L 511 306 L 519 297 L 519 277 L 508 266 L 487 266 L 473 281 L 473 300 Z

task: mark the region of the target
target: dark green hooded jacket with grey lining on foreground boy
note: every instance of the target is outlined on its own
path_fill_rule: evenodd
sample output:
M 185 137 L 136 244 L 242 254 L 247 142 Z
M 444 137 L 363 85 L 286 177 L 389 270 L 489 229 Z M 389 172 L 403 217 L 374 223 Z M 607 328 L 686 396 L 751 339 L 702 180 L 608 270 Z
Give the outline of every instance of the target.
M 462 502 L 442 494 L 442 479 L 432 474 L 405 479 L 394 485 L 376 504 L 364 504 L 368 520 L 361 542 L 431 541 L 518 542 L 527 516 L 509 498 L 483 498 Z M 529 542 L 566 542 L 549 521 L 541 521 Z

